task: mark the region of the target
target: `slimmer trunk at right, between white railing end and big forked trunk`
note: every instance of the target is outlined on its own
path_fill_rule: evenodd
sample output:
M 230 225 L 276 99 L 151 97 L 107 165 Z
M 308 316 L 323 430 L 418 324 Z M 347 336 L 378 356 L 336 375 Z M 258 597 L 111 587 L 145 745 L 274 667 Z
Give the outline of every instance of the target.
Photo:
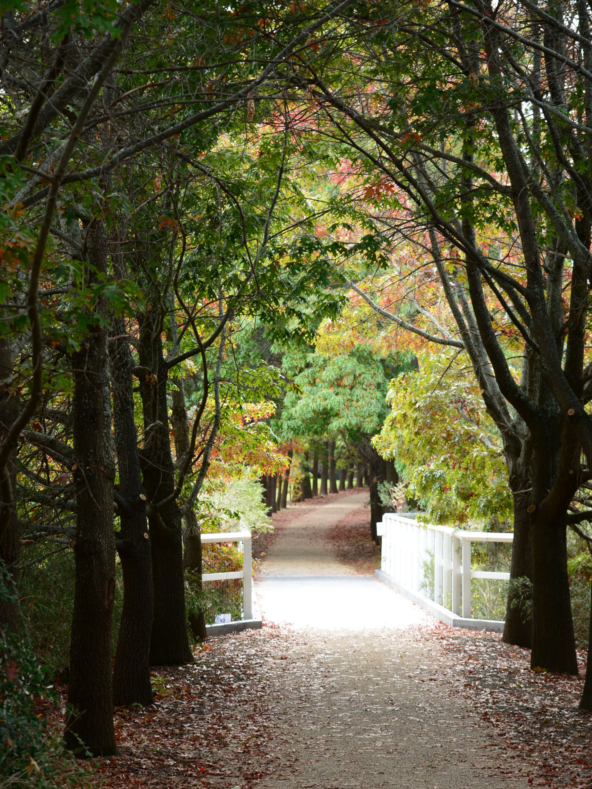
M 519 481 L 521 482 L 521 481 Z M 530 515 L 526 508 L 530 484 L 514 484 L 514 541 L 511 547 L 510 593 L 502 641 L 530 649 L 532 632 L 532 553 L 530 552 Z

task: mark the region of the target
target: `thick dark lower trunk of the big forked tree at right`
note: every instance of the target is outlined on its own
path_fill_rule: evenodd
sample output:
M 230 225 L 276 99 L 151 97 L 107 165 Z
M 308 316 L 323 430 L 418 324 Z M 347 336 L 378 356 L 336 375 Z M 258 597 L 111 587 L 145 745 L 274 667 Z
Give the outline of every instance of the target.
M 530 667 L 577 674 L 565 525 L 545 517 L 545 513 L 535 514 L 530 525 L 530 544 L 533 559 Z

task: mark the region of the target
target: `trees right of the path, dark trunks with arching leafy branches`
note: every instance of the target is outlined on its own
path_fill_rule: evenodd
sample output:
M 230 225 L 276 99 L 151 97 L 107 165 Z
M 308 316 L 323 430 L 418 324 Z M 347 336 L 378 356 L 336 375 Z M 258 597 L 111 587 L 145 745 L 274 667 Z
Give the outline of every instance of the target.
M 358 200 L 348 240 L 370 225 L 397 252 L 335 267 L 382 323 L 466 354 L 512 496 L 504 638 L 576 673 L 566 528 L 587 539 L 592 511 L 590 9 L 383 2 L 363 34 L 349 19 L 340 32 L 300 58 L 311 120 L 297 133 L 323 140 L 335 191 Z

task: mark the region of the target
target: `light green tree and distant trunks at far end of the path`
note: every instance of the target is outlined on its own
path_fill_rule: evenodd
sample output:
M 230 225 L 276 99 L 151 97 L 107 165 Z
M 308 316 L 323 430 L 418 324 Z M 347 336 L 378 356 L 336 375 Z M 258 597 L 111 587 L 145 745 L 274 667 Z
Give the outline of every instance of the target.
M 315 349 L 287 353 L 282 363 L 293 384 L 283 399 L 278 432 L 302 444 L 299 495 L 336 493 L 346 489 L 348 476 L 353 487 L 355 477 L 358 486 L 369 486 L 374 540 L 384 512 L 380 484 L 396 483 L 398 475 L 392 459 L 381 458 L 371 439 L 388 413 L 388 381 L 406 368 L 406 358 L 396 353 L 381 357 L 364 344 L 350 349 L 340 344 L 324 352 L 317 343 Z

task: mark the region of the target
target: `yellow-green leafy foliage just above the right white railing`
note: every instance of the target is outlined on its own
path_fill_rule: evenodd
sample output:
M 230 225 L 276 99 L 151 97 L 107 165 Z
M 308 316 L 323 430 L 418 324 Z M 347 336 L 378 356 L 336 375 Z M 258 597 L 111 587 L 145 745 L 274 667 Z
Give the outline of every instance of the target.
M 425 353 L 419 369 L 392 380 L 392 410 L 373 443 L 395 461 L 411 498 L 432 522 L 500 525 L 511 518 L 500 436 L 466 360 Z

